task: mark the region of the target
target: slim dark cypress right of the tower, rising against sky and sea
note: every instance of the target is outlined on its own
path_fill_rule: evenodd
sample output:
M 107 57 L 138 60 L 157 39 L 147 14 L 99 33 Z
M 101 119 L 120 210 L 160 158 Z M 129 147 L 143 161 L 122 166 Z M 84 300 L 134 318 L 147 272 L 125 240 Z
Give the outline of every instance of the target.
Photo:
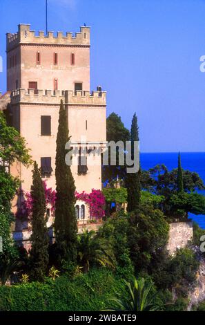
M 131 157 L 132 160 L 135 158 L 134 153 L 134 142 L 139 141 L 139 128 L 137 125 L 137 115 L 133 115 L 131 131 L 130 131 L 130 141 L 131 141 Z M 137 173 L 127 173 L 126 174 L 126 188 L 128 192 L 128 212 L 137 210 L 140 202 L 140 175 L 141 170 Z

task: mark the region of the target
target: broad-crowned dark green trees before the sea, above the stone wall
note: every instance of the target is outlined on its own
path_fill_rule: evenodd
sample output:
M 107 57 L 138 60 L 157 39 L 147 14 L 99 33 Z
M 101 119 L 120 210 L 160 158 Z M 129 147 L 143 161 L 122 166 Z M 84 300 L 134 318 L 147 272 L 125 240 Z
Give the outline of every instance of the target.
M 183 191 L 178 191 L 178 169 L 168 171 L 165 165 L 157 165 L 148 171 L 142 171 L 141 187 L 150 193 L 164 197 L 162 210 L 166 216 L 179 219 L 186 218 L 188 212 L 204 214 L 204 196 L 195 193 L 196 190 L 205 189 L 204 183 L 195 172 L 182 169 L 181 173 L 180 165 L 179 158 L 179 174 L 183 181 Z

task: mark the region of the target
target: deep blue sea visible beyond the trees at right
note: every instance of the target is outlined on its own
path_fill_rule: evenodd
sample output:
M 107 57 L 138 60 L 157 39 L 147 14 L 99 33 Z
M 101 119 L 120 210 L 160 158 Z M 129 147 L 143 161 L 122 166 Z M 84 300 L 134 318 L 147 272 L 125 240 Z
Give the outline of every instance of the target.
M 195 171 L 205 184 L 205 152 L 182 152 L 182 168 Z M 140 164 L 142 169 L 150 169 L 156 165 L 164 164 L 168 170 L 177 168 L 178 153 L 141 153 Z M 205 195 L 205 190 L 197 191 Z M 189 218 L 205 229 L 205 215 L 188 214 Z

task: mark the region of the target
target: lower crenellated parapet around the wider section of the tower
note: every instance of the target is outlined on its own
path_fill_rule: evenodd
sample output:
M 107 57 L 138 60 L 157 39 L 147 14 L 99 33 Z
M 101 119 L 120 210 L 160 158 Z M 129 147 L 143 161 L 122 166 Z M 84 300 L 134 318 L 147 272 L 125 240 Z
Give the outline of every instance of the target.
M 65 104 L 106 106 L 106 91 L 51 91 L 35 89 L 17 89 L 12 91 L 11 104 Z

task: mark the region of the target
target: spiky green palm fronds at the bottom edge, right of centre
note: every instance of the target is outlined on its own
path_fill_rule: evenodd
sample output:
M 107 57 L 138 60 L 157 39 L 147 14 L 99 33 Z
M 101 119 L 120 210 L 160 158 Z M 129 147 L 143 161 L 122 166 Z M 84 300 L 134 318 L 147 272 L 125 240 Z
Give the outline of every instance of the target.
M 124 280 L 125 281 L 125 280 Z M 116 310 L 126 311 L 154 311 L 159 308 L 156 297 L 153 294 L 153 283 L 144 278 L 133 279 L 133 282 L 125 281 L 128 288 L 128 297 L 118 295 L 118 298 L 109 299 L 117 306 Z

